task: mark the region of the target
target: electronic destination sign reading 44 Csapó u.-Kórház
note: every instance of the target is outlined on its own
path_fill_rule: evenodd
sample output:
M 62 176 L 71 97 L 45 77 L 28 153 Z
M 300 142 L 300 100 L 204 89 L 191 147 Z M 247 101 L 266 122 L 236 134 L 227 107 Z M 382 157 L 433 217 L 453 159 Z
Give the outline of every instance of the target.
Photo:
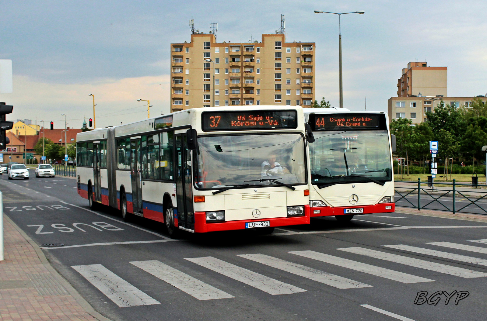
M 385 114 L 311 114 L 312 130 L 387 129 Z

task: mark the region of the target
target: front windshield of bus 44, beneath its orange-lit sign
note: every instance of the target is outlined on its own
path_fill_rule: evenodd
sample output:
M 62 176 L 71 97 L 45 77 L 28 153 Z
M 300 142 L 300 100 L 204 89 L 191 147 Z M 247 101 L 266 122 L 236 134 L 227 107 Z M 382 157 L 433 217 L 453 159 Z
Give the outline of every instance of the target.
M 392 180 L 387 130 L 314 132 L 309 144 L 311 181 L 318 187 Z

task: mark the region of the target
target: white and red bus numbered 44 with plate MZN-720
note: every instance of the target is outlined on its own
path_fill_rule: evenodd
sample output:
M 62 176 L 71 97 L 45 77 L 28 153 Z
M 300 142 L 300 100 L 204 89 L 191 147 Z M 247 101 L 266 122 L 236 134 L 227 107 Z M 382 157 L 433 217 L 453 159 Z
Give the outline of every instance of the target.
M 355 214 L 394 212 L 392 152 L 383 112 L 304 108 L 309 144 L 310 215 L 348 221 Z

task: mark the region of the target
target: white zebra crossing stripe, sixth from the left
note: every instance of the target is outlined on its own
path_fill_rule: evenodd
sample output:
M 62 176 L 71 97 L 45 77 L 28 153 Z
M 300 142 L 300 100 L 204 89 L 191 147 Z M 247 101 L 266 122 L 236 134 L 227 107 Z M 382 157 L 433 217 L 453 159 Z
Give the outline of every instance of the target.
M 385 261 L 389 261 L 389 262 L 408 265 L 410 267 L 424 268 L 426 270 L 431 270 L 431 271 L 440 272 L 440 273 L 444 273 L 444 274 L 459 276 L 459 277 L 465 278 L 465 279 L 480 278 L 480 277 L 486 277 L 487 276 L 487 273 L 484 273 L 484 272 L 474 271 L 474 270 L 470 270 L 470 269 L 466 269 L 466 268 L 462 268 L 462 267 L 452 267 L 452 266 L 449 266 L 446 264 L 429 262 L 429 261 L 425 261 L 425 260 L 415 259 L 412 257 L 407 257 L 407 256 L 402 256 L 402 255 L 397 255 L 397 254 L 392 254 L 392 253 L 386 253 L 386 252 L 381 252 L 381 251 L 376 251 L 376 250 L 370 250 L 370 249 L 365 249 L 365 248 L 360 248 L 360 247 L 343 248 L 343 249 L 336 249 L 336 250 L 341 250 L 341 251 L 346 251 L 346 252 L 350 252 L 350 253 L 365 255 L 365 256 L 373 257 L 373 258 L 380 259 L 380 260 L 385 260 Z

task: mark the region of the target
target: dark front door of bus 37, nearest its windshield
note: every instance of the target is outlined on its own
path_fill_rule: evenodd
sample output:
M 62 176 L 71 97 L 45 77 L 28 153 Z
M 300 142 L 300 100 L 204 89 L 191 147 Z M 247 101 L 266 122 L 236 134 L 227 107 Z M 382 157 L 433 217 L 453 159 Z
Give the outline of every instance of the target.
M 178 226 L 194 231 L 191 151 L 187 149 L 186 133 L 176 139 L 176 201 Z

